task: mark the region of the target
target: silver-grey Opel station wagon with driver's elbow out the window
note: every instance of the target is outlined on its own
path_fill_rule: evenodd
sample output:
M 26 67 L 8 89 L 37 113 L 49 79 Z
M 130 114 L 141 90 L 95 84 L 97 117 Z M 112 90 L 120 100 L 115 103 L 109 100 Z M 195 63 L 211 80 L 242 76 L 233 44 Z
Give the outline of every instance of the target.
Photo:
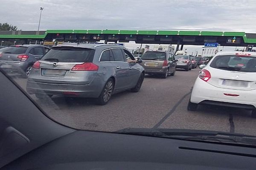
M 138 92 L 144 79 L 144 68 L 121 45 L 57 45 L 33 65 L 27 91 L 67 97 L 97 98 L 105 105 L 112 94 L 131 90 Z

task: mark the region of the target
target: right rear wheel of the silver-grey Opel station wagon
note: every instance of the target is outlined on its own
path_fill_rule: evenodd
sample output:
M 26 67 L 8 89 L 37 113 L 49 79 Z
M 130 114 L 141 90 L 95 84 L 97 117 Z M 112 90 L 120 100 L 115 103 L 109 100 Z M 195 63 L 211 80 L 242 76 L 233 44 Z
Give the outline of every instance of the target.
M 96 99 L 96 104 L 106 105 L 108 103 L 108 101 L 110 100 L 110 98 L 111 98 L 111 95 L 113 93 L 113 89 L 114 89 L 114 81 L 113 81 L 113 79 L 110 78 L 110 79 L 108 79 L 104 88 L 102 89 L 101 94 Z

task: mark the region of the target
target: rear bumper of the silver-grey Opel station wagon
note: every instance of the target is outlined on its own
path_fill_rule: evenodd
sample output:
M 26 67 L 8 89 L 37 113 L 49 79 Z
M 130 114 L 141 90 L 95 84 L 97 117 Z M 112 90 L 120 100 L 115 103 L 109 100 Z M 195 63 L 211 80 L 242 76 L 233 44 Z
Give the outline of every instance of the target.
M 99 97 L 102 88 L 92 83 L 86 85 L 54 84 L 28 81 L 26 90 L 29 94 L 50 94 L 72 97 Z

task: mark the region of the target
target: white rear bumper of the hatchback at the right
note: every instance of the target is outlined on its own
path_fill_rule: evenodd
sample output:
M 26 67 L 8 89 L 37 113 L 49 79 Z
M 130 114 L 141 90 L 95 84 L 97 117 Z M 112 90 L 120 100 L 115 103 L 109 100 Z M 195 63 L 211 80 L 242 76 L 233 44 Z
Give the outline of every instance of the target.
M 226 96 L 227 94 L 239 94 L 239 96 Z M 234 108 L 256 108 L 256 90 L 243 91 L 225 88 L 217 88 L 197 78 L 192 90 L 192 103 L 222 105 Z

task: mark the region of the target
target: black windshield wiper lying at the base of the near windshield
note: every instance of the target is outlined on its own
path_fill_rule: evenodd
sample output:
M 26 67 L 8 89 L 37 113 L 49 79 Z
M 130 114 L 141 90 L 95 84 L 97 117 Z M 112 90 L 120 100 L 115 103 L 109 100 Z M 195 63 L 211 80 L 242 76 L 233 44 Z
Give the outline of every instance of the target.
M 256 136 L 245 135 L 242 133 L 228 133 L 211 130 L 191 130 L 191 129 L 162 129 L 162 128 L 126 128 L 115 131 L 141 136 L 154 136 L 172 139 L 211 141 L 222 143 L 250 144 L 256 145 Z

